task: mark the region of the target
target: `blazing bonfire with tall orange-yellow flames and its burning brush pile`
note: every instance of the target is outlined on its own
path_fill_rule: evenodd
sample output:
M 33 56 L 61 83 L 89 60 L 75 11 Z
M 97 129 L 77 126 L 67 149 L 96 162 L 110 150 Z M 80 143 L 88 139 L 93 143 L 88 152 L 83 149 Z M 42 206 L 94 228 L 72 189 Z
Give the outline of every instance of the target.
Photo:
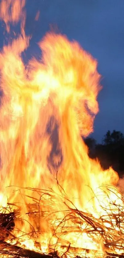
M 124 257 L 118 175 L 88 157 L 81 137 L 98 113 L 97 62 L 77 42 L 47 33 L 41 60 L 25 66 L 24 6 L 0 6 L 8 34 L 21 21 L 0 53 L 0 257 Z

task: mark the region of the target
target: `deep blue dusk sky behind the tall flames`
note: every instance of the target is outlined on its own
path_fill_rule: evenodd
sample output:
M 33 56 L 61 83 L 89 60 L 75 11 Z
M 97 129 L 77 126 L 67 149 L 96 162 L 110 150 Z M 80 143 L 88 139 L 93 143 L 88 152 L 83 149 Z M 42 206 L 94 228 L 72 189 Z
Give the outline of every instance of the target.
M 78 41 L 98 60 L 102 75 L 100 111 L 91 136 L 100 142 L 107 130 L 124 133 L 124 0 L 27 0 L 26 10 L 26 32 L 32 39 L 25 58 L 38 58 L 37 42 L 50 24 Z M 39 20 L 34 21 L 38 10 Z M 0 35 L 2 47 L 2 27 Z

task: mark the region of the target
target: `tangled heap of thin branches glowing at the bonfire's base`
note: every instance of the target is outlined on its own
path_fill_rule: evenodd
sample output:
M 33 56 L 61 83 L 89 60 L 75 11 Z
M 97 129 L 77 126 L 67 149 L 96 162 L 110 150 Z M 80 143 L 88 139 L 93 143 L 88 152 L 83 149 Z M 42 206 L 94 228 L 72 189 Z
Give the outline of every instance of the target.
M 110 186 L 100 187 L 93 198 L 102 212 L 94 211 L 92 214 L 77 208 L 73 200 L 67 198 L 58 181 L 57 185 L 58 191 L 52 188 L 44 190 L 27 187 L 26 191 L 30 195 L 23 195 L 21 191 L 24 188 L 19 188 L 25 202 L 25 211 L 22 213 L 22 207 L 14 210 L 15 204 L 8 204 L 7 212 L 10 209 L 10 213 L 2 210 L 0 253 L 20 258 L 34 257 L 34 251 L 38 252 L 39 258 L 43 253 L 54 257 L 124 257 L 124 205 L 119 200 L 118 190 Z M 106 192 L 104 188 L 107 189 Z M 115 201 L 110 198 L 113 192 Z M 103 205 L 103 194 L 107 199 L 106 206 Z M 29 225 L 29 232 L 23 227 L 25 222 Z M 22 252 L 22 249 L 29 248 L 27 240 L 34 243 L 32 255 L 28 251 Z M 11 252 L 8 247 L 5 248 L 3 241 L 15 244 L 13 248 L 9 244 Z M 15 255 L 18 248 L 14 246 L 20 248 L 21 254 Z M 105 252 L 100 255 L 101 250 Z

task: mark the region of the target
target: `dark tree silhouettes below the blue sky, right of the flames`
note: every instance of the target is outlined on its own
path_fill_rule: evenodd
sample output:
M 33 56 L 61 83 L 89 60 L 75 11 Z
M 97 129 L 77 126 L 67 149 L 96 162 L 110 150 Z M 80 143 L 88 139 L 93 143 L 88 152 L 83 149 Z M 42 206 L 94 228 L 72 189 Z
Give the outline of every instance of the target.
M 92 137 L 84 139 L 89 148 L 89 157 L 98 158 L 103 169 L 110 166 L 121 176 L 124 174 L 124 135 L 120 131 L 108 130 L 102 144 L 96 144 Z

